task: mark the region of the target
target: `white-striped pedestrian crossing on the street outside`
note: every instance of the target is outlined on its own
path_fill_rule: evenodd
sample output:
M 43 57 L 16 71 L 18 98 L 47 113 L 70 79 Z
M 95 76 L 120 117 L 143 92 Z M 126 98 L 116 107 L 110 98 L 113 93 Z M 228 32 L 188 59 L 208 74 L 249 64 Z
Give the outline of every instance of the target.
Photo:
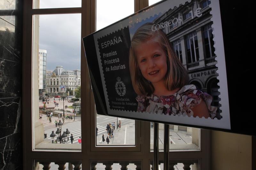
M 54 133 L 56 134 L 57 128 L 52 128 L 52 129 L 48 129 L 48 130 L 44 130 L 44 133 L 47 134 L 47 140 L 52 141 L 52 137 L 50 137 L 50 135 L 52 134 L 52 130 L 54 131 Z M 79 137 L 83 138 L 82 132 L 81 132 L 81 120 L 72 122 L 72 123 L 68 123 L 68 124 L 63 124 L 62 128 L 61 128 L 61 135 L 63 134 L 64 131 L 66 131 L 66 129 L 68 128 L 68 130 L 70 131 L 69 137 L 71 136 L 71 133 L 73 134 L 74 137 L 74 141 L 73 144 L 78 144 L 78 139 Z M 106 131 L 106 127 L 97 125 L 98 128 L 98 135 L 103 134 L 103 133 L 107 133 Z M 56 137 L 54 137 L 54 140 L 56 140 Z M 66 142 L 67 144 L 71 144 L 70 138 L 68 140 L 68 142 Z

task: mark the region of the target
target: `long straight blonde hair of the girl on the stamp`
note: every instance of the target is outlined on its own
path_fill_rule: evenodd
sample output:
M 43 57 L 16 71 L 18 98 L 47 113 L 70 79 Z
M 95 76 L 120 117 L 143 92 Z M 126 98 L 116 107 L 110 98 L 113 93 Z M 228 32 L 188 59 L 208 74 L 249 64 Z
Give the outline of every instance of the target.
M 136 48 L 140 43 L 151 40 L 157 42 L 164 50 L 167 58 L 167 73 L 164 77 L 165 88 L 169 91 L 181 88 L 188 83 L 188 74 L 176 54 L 171 48 L 170 41 L 161 30 L 152 31 L 153 23 L 146 23 L 136 31 L 132 37 L 129 52 L 129 69 L 132 86 L 138 95 L 147 95 L 154 92 L 154 86 L 145 79 L 139 69 L 136 56 Z M 147 49 L 145 49 L 147 50 Z

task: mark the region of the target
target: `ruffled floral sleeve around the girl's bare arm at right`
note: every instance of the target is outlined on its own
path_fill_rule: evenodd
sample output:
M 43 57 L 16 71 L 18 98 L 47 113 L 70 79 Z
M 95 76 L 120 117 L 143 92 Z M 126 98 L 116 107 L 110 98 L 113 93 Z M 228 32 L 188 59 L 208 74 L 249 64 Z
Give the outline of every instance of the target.
M 180 101 L 184 105 L 184 111 L 187 112 L 189 116 L 193 116 L 193 111 L 191 110 L 198 104 L 205 102 L 209 116 L 213 119 L 216 116 L 217 107 L 211 106 L 212 96 L 206 92 L 196 89 L 195 85 L 185 85 L 178 92 L 180 95 Z

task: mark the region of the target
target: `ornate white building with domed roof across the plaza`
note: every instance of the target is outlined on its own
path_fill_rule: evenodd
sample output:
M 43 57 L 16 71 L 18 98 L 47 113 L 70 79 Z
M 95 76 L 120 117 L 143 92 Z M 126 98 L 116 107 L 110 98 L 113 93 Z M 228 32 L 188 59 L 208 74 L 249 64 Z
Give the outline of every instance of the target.
M 47 71 L 46 92 L 66 92 L 69 88 L 75 90 L 81 85 L 81 70 L 68 71 L 63 66 L 57 66 L 53 71 Z M 72 94 L 70 94 L 72 95 Z

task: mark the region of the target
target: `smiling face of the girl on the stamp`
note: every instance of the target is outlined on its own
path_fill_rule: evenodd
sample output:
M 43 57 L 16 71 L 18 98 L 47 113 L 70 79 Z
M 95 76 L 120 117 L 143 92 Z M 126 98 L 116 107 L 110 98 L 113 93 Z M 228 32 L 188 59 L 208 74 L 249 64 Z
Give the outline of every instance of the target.
M 149 40 L 140 43 L 135 54 L 143 77 L 150 81 L 153 86 L 155 83 L 164 83 L 164 76 L 167 72 L 164 49 L 157 42 Z

